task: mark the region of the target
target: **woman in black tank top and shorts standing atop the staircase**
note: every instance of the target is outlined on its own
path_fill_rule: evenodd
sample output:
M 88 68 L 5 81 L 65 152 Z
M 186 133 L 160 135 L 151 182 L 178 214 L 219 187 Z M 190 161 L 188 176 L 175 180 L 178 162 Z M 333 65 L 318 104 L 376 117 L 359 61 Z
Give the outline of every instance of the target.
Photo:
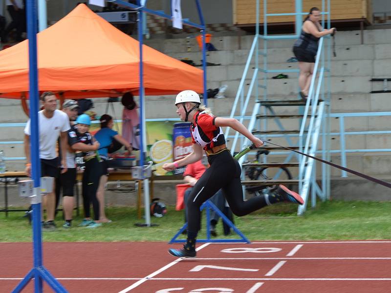
M 320 10 L 312 7 L 305 18 L 302 26 L 302 33 L 293 45 L 293 53 L 299 61 L 299 86 L 300 96 L 306 100 L 309 86 L 311 84 L 312 73 L 315 65 L 315 57 L 318 52 L 318 42 L 323 36 L 333 34 L 336 29 L 324 29 L 319 23 Z

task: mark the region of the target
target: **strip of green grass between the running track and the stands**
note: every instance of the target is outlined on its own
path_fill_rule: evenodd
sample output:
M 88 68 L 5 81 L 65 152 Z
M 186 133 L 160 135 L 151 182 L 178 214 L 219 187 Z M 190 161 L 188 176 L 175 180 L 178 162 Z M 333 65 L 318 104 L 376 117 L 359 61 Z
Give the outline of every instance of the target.
M 23 212 L 0 213 L 0 242 L 30 242 L 31 226 Z M 57 216 L 56 231 L 43 232 L 47 242 L 83 241 L 169 241 L 183 224 L 183 211 L 168 207 L 167 215 L 152 217 L 156 227 L 135 227 L 135 208 L 108 208 L 113 223 L 89 230 L 77 227 L 82 217 L 76 217 L 73 227 L 62 228 L 62 213 Z M 205 238 L 205 219 L 198 238 Z M 391 239 L 391 202 L 325 202 L 316 209 L 308 208 L 304 216 L 296 216 L 296 207 L 289 204 L 261 209 L 244 217 L 235 217 L 235 224 L 251 241 L 256 240 L 368 240 Z M 217 225 L 218 238 L 222 225 Z M 238 238 L 237 235 L 225 237 Z

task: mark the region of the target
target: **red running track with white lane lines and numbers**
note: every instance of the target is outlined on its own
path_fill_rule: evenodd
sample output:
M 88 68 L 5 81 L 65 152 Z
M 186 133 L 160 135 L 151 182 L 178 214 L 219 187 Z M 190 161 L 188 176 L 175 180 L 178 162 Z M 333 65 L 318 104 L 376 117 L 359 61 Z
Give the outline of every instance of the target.
M 69 293 L 391 292 L 391 241 L 203 244 L 196 259 L 170 247 L 44 243 L 43 264 Z M 0 292 L 11 292 L 32 267 L 31 243 L 0 243 L 0 261 Z

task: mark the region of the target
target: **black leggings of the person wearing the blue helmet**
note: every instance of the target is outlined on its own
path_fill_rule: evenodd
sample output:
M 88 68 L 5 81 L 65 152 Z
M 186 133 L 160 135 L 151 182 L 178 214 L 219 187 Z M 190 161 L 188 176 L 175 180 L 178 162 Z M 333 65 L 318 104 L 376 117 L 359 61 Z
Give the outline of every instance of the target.
M 94 220 L 99 220 L 99 202 L 96 198 L 96 191 L 99 187 L 99 179 L 102 175 L 102 168 L 97 157 L 91 158 L 85 162 L 86 169 L 83 173 L 83 208 L 86 218 L 90 217 L 89 207 L 92 203 L 94 209 Z

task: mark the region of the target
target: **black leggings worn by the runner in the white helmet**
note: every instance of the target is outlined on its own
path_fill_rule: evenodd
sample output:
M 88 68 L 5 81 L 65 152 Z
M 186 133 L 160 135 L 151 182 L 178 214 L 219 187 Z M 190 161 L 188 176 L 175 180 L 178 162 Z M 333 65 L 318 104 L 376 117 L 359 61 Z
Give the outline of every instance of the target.
M 220 188 L 232 212 L 237 216 L 244 216 L 267 205 L 263 196 L 256 196 L 243 201 L 243 191 L 240 182 L 241 169 L 239 163 L 232 157 L 228 149 L 215 155 L 210 155 L 208 162 L 211 167 L 206 169 L 201 178 L 199 178 L 186 203 L 188 209 L 188 231 L 199 231 L 201 221 L 199 208 Z

